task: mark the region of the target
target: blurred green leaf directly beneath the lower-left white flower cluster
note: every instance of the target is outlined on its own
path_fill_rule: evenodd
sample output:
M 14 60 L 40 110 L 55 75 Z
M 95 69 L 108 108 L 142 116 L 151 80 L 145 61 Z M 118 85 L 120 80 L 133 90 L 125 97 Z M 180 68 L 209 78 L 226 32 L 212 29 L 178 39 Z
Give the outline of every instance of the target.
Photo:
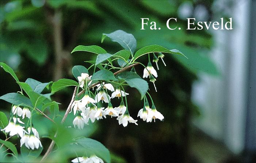
M 20 147 L 20 154 L 22 155 L 24 160 L 35 160 L 43 151 L 43 147 L 40 147 L 38 149 L 28 149 L 25 144 L 23 144 L 22 147 Z

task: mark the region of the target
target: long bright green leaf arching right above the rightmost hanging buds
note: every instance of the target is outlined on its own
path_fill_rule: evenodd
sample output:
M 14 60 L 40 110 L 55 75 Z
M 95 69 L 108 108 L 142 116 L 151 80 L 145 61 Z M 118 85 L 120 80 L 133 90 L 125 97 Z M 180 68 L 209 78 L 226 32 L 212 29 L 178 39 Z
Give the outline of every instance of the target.
M 141 49 L 139 49 L 135 54 L 134 54 L 134 61 L 137 60 L 139 57 L 143 56 L 144 54 L 148 54 L 148 53 L 156 53 L 156 52 L 161 52 L 161 53 L 172 53 L 172 54 L 178 54 L 178 55 L 182 55 L 184 56 L 183 53 L 178 53 L 173 49 L 174 51 L 168 50 L 166 48 L 164 48 L 163 46 L 160 45 L 149 45 L 149 46 L 145 46 Z M 186 56 L 184 56 L 186 57 Z

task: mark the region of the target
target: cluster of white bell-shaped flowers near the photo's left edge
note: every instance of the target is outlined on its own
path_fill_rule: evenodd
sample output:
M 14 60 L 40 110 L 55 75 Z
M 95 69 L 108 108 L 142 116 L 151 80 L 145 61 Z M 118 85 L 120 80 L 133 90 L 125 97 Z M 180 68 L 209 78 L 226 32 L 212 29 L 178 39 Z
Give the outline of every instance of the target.
M 16 117 L 14 117 L 14 115 L 16 115 Z M 21 107 L 14 105 L 12 107 L 12 117 L 10 118 L 8 125 L 1 131 L 9 133 L 10 136 L 20 136 L 20 147 L 22 147 L 23 144 L 25 144 L 28 149 L 32 150 L 38 149 L 39 146 L 42 147 L 37 129 L 35 129 L 34 127 L 28 127 L 27 131 L 24 130 L 25 127 L 22 126 L 24 125 L 24 122 L 22 122 L 17 116 L 22 116 L 22 119 L 24 119 L 25 117 L 30 118 L 31 112 L 27 107 L 24 107 L 22 109 Z

